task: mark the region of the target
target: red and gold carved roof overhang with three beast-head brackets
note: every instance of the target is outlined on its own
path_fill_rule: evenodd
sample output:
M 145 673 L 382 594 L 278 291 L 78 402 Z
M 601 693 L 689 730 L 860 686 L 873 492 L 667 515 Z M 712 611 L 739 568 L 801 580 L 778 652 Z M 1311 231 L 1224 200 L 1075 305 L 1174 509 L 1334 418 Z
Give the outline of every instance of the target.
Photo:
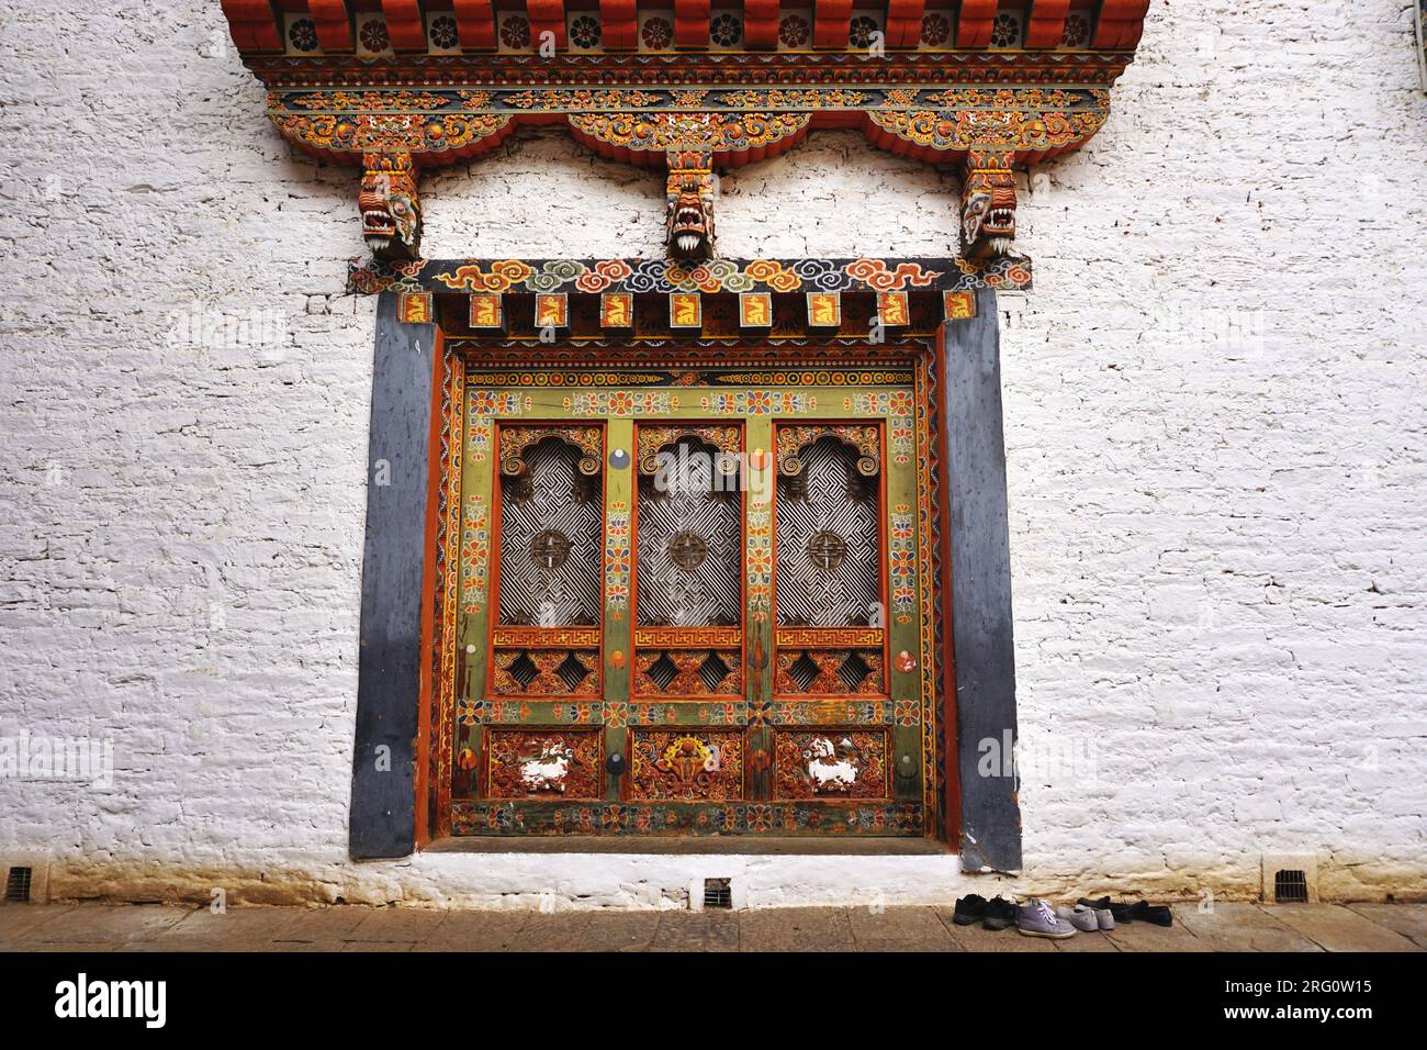
M 676 260 L 714 250 L 715 171 L 815 129 L 962 169 L 962 250 L 1017 257 L 1017 164 L 1106 121 L 1149 0 L 220 0 L 285 139 L 361 164 L 380 260 L 420 259 L 421 169 L 562 124 L 665 167 Z M 719 4 L 723 4 L 722 7 Z M 858 3 L 865 3 L 859 7 Z

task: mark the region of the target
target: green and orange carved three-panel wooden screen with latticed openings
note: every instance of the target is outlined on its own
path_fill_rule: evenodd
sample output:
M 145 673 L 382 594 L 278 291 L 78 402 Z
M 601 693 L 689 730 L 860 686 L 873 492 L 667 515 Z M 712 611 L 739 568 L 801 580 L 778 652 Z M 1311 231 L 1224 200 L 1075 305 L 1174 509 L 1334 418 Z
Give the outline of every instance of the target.
M 920 371 L 474 380 L 452 830 L 922 834 Z

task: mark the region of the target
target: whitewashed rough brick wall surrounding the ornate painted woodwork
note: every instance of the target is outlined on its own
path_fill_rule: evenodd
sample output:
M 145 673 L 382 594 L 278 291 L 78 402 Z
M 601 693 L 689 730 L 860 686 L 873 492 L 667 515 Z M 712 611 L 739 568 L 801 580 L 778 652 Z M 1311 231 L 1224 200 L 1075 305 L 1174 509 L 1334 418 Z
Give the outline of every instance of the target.
M 946 900 L 949 857 L 354 864 L 374 301 L 217 3 L 0 0 L 0 859 L 56 896 Z M 1400 0 L 1157 0 L 1029 176 L 1003 297 L 1019 889 L 1427 893 L 1427 97 Z M 658 176 L 555 131 L 427 176 L 431 256 L 659 251 Z M 852 133 L 736 171 L 729 256 L 945 254 L 956 184 Z M 982 880 L 985 881 L 985 880 Z

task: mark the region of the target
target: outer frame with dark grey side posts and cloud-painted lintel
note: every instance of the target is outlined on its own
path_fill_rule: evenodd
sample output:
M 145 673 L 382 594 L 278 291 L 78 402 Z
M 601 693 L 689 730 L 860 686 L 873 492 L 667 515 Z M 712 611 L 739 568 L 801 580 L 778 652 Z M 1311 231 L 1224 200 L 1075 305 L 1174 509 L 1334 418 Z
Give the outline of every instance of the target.
M 455 260 L 434 264 L 432 274 L 461 267 L 468 273 L 514 273 L 518 267 L 509 264 L 517 261 L 545 271 L 531 260 Z M 565 261 L 561 270 L 599 273 L 601 261 L 611 260 Z M 838 270 L 835 260 L 763 261 L 786 273 Z M 936 441 L 929 470 L 938 493 L 930 513 L 938 537 L 933 637 L 940 666 L 929 667 L 929 687 L 936 691 L 942 723 L 942 784 L 940 821 L 928 830 L 958 849 L 970 870 L 1015 870 L 1020 866 L 1015 773 L 997 767 L 986 776 L 979 761 L 982 741 L 1000 744 L 1016 730 L 995 290 L 966 287 L 980 276 L 946 266 L 946 260 L 939 270 L 930 269 L 936 260 L 862 261 L 875 263 L 863 267 L 870 273 L 900 273 L 903 284 L 922 280 L 906 294 L 918 330 L 928 333 L 922 341 L 930 354 Z M 468 326 L 452 326 L 451 319 L 468 319 L 472 297 L 487 293 L 455 291 L 432 274 L 421 280 L 435 280 L 441 291 L 414 283 L 404 290 L 391 284 L 370 289 L 378 293 L 378 321 L 350 824 L 351 853 L 361 859 L 410 854 L 447 831 L 441 814 L 450 811 L 450 797 L 442 799 L 441 791 L 442 786 L 450 790 L 452 747 L 441 734 L 440 714 L 452 703 L 442 689 L 459 680 L 462 654 L 454 643 L 447 644 L 451 626 L 444 623 L 442 610 L 454 609 L 458 586 L 459 470 L 454 466 L 462 444 L 464 371 L 448 369 L 447 360 L 457 353 L 451 347 L 472 334 Z M 385 270 L 374 277 L 374 267 L 358 266 L 352 280 L 380 283 Z M 641 346 L 645 354 L 655 354 L 661 351 L 651 347 L 681 341 L 748 347 L 763 340 L 772 340 L 768 360 L 778 360 L 776 346 L 783 339 L 763 331 L 742 337 L 671 333 L 661 327 L 665 311 L 658 293 L 642 294 L 635 333 L 589 333 L 601 293 L 571 294 L 572 323 L 585 326 L 586 334 L 584 346 L 571 331 L 545 349 L 555 363 L 588 360 L 591 353 L 618 359 Z M 729 293 L 696 294 L 712 300 Z M 779 317 L 806 311 L 806 294 L 776 293 L 773 311 Z M 856 317 L 882 309 L 879 293 L 863 280 L 843 297 L 850 303 L 842 310 L 843 330 L 792 343 L 860 344 L 869 351 Z M 504 353 L 509 360 L 528 357 L 529 346 L 539 344 L 535 306 L 528 299 L 521 291 L 501 297 L 509 331 L 489 341 L 508 346 Z M 712 319 L 716 311 L 701 313 Z M 651 314 L 652 326 L 644 323 Z M 893 346 L 888 354 L 899 351 L 905 349 Z M 955 630 L 949 630 L 952 623 Z

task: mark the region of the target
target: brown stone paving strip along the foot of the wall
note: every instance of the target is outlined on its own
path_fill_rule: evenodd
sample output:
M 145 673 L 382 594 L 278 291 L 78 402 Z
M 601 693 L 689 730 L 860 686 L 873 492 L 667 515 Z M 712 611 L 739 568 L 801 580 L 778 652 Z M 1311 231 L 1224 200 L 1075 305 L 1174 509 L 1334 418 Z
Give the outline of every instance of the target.
M 6 951 L 1421 951 L 1427 904 L 1174 906 L 1070 940 L 955 926 L 949 907 L 756 911 L 428 911 L 4 904 Z

